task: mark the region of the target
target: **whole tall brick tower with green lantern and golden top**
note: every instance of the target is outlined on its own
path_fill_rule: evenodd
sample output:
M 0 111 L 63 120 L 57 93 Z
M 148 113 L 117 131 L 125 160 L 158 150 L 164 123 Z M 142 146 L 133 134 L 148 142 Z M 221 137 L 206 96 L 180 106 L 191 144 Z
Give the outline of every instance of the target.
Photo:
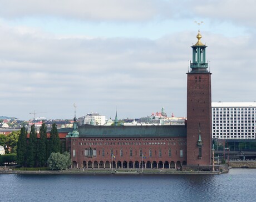
M 187 165 L 211 165 L 211 73 L 198 31 L 187 86 Z

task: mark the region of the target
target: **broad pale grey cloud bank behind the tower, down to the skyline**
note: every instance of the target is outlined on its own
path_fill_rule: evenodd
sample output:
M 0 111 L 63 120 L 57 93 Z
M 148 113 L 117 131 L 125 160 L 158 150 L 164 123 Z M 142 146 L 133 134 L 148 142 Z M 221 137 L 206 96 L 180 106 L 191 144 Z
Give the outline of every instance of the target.
M 74 102 L 78 116 L 92 110 L 114 118 L 116 105 L 120 118 L 150 115 L 161 107 L 168 114 L 186 114 L 185 73 L 194 32 L 158 40 L 56 39 L 3 29 L 2 115 L 27 119 L 37 110 L 47 112 L 47 118 L 72 118 Z M 202 34 L 211 60 L 213 101 L 256 100 L 254 39 Z

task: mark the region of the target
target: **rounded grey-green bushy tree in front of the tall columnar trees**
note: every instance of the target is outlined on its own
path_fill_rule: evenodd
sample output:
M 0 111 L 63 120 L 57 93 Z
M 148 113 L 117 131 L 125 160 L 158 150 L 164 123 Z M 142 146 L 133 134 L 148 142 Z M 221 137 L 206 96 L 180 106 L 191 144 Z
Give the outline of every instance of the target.
M 63 154 L 53 152 L 48 158 L 47 163 L 52 170 L 67 169 L 71 165 L 70 154 L 67 151 Z

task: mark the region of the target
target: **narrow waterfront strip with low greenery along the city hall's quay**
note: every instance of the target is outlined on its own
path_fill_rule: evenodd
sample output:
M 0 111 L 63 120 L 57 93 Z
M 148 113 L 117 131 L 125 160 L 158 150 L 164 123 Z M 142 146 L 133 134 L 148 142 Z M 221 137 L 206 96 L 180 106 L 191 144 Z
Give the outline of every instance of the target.
M 67 169 L 67 170 L 49 170 L 47 168 L 34 169 L 0 169 L 0 174 L 223 174 L 220 171 L 181 171 L 177 169 Z

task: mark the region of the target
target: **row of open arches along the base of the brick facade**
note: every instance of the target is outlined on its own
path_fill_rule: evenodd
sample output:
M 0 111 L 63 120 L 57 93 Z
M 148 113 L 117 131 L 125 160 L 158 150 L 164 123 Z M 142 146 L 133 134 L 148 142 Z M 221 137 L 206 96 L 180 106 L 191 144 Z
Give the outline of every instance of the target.
M 78 164 L 76 161 L 72 162 L 71 168 L 82 169 L 178 169 L 186 165 L 186 161 L 83 161 Z

